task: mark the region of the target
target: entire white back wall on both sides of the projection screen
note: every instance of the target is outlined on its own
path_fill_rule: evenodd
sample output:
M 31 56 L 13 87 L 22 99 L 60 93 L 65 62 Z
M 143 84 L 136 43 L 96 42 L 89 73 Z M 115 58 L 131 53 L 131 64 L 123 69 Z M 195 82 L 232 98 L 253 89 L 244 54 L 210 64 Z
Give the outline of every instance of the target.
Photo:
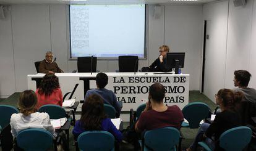
M 148 59 L 139 68 L 150 65 L 159 55 L 158 47 L 168 44 L 176 52 L 186 52 L 183 73 L 190 73 L 190 90 L 200 88 L 202 48 L 202 6 L 161 6 L 160 18 L 154 18 L 154 6 L 148 7 Z M 70 72 L 77 62 L 69 60 L 69 18 L 64 4 L 13 5 L 0 20 L 0 97 L 27 89 L 27 74 L 36 73 L 34 62 L 43 60 L 52 50 L 59 67 Z M 117 60 L 99 60 L 97 69 L 115 71 Z M 4 70 L 4 72 L 2 72 Z

